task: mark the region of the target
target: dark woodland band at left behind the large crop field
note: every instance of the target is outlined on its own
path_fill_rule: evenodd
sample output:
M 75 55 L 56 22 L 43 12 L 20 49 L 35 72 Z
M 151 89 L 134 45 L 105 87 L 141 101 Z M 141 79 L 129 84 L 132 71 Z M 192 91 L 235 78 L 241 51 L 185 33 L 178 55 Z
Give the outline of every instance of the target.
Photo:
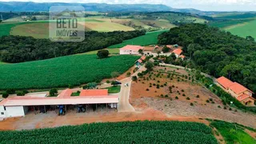
M 83 42 L 50 42 L 49 39 L 3 36 L 0 38 L 0 61 L 27 62 L 101 50 L 142 34 L 145 34 L 145 31 L 87 31 Z

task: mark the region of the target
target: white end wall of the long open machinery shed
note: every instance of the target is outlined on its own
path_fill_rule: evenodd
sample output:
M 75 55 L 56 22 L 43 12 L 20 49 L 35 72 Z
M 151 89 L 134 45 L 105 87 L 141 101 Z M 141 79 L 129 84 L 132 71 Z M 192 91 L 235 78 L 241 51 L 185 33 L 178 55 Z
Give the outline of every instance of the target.
M 6 117 L 25 116 L 23 106 L 6 106 Z

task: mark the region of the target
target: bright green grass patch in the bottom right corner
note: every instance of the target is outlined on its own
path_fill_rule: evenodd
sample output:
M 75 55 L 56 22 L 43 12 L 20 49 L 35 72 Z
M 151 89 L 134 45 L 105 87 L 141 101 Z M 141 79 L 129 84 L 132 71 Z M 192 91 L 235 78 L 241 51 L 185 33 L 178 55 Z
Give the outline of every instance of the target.
M 243 129 L 242 126 L 232 124 L 230 122 L 214 121 L 210 123 L 210 126 L 214 126 L 225 139 L 227 144 L 242 143 L 242 144 L 254 144 L 256 140 L 250 137 Z

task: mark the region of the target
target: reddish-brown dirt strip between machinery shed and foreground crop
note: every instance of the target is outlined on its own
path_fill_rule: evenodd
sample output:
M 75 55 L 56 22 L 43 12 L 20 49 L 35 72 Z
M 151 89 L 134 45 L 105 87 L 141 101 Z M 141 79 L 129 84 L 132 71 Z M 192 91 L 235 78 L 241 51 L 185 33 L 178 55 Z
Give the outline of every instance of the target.
M 187 121 L 187 122 L 203 122 L 207 124 L 206 120 L 195 117 L 168 117 L 161 111 L 154 109 L 146 109 L 135 113 L 118 113 L 114 110 L 89 112 L 77 114 L 74 111 L 69 111 L 64 116 L 58 116 L 54 111 L 47 114 L 26 114 L 22 118 L 7 118 L 0 122 L 0 130 L 30 130 L 46 127 L 58 127 L 67 125 L 81 125 L 83 123 L 92 122 L 125 122 L 125 121 Z

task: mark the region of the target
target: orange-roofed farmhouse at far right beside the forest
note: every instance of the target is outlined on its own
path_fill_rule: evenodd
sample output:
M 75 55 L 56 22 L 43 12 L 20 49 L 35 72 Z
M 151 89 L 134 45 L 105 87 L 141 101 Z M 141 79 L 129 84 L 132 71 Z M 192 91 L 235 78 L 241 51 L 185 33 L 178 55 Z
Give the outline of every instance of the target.
M 217 82 L 223 90 L 226 90 L 226 92 L 231 94 L 234 98 L 237 98 L 243 105 L 254 106 L 255 99 L 252 97 L 254 93 L 245 86 L 242 86 L 238 82 L 232 82 L 225 77 L 218 78 Z

